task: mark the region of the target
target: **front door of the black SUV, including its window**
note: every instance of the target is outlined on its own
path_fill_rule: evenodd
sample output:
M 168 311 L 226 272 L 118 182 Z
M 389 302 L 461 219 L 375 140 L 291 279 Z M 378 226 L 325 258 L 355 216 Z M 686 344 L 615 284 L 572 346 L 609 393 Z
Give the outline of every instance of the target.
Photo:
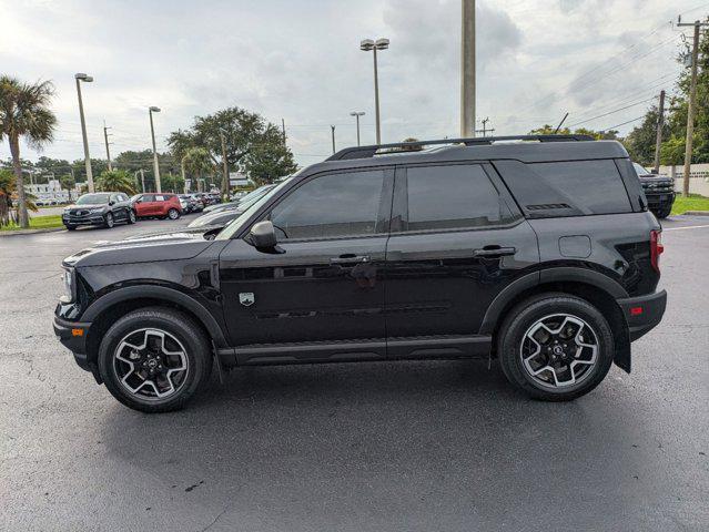
M 240 364 L 386 356 L 383 265 L 393 170 L 325 173 L 262 219 L 280 253 L 233 239 L 220 283 Z

